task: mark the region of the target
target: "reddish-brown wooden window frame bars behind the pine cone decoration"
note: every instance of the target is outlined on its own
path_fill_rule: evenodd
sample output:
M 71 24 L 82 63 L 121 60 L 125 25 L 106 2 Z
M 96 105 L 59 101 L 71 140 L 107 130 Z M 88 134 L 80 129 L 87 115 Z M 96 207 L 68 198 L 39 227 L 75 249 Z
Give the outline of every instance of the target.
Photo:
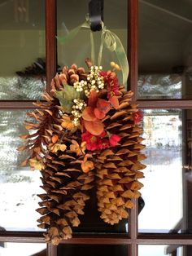
M 129 55 L 129 89 L 133 90 L 133 101 L 139 108 L 192 108 L 190 99 L 137 99 L 137 72 L 138 72 L 138 0 L 128 1 L 128 55 Z M 56 46 L 56 0 L 46 0 L 46 82 L 47 88 L 56 73 L 57 46 Z M 35 108 L 31 100 L 2 100 L 0 110 L 17 110 Z M 137 205 L 137 201 L 135 201 Z M 17 243 L 42 243 L 42 232 L 0 232 L 0 241 Z M 138 245 L 192 245 L 190 234 L 161 234 L 137 232 L 137 206 L 131 210 L 129 216 L 129 234 L 74 234 L 71 240 L 62 241 L 62 244 L 89 244 L 89 245 L 129 245 L 129 256 L 137 256 Z M 57 247 L 47 245 L 47 255 L 56 256 Z

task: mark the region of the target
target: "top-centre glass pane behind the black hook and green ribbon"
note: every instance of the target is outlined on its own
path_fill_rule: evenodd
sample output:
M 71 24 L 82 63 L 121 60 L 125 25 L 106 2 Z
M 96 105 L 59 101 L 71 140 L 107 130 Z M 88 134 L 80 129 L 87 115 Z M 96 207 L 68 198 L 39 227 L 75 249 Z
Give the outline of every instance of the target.
M 76 7 L 76 0 L 57 0 L 58 16 L 58 35 L 66 36 L 68 31 L 76 28 L 85 21 L 85 15 L 88 13 L 88 4 L 86 0 L 81 1 L 81 5 Z M 115 19 L 114 19 L 115 17 Z M 117 22 L 118 20 L 118 22 Z M 127 1 L 107 0 L 104 2 L 104 22 L 107 29 L 120 38 L 124 49 L 127 48 Z M 58 63 L 62 67 L 64 64 L 70 66 L 76 63 L 78 66 L 85 67 L 85 58 L 90 58 L 90 32 L 89 29 L 81 29 L 76 38 L 70 39 L 64 45 L 58 43 Z M 96 60 L 98 48 L 100 46 L 100 32 L 94 33 L 94 45 L 96 51 Z M 111 61 L 117 61 L 115 54 L 109 53 L 103 49 L 103 68 L 109 68 Z

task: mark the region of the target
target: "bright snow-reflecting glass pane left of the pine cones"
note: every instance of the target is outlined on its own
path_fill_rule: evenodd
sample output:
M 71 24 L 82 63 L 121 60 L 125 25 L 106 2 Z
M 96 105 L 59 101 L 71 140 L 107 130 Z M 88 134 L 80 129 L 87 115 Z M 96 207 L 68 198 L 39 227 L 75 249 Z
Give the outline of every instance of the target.
M 37 171 L 20 167 L 24 154 L 16 148 L 21 146 L 19 135 L 26 134 L 23 122 L 25 111 L 0 111 L 0 228 L 3 230 L 30 230 L 37 228 L 35 211 L 40 199 L 41 184 Z

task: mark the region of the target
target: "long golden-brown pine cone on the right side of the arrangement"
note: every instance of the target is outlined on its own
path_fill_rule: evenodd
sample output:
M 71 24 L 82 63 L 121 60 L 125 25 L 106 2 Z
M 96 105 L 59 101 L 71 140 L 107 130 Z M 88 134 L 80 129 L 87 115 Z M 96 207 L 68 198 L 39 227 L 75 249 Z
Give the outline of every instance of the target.
M 127 209 L 133 208 L 133 198 L 138 198 L 143 178 L 139 170 L 146 166 L 140 161 L 146 157 L 140 152 L 142 128 L 135 125 L 132 114 L 137 112 L 137 105 L 129 104 L 131 92 L 123 92 L 119 98 L 120 108 L 111 110 L 105 117 L 104 125 L 111 134 L 120 136 L 120 143 L 113 148 L 98 153 L 97 197 L 101 218 L 111 225 L 128 218 Z

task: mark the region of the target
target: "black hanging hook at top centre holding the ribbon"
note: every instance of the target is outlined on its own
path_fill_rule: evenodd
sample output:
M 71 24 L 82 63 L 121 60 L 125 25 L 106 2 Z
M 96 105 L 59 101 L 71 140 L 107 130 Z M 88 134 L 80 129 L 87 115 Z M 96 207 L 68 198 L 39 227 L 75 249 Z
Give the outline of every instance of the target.
M 90 0 L 89 2 L 89 21 L 92 31 L 100 31 L 103 21 L 104 0 Z

